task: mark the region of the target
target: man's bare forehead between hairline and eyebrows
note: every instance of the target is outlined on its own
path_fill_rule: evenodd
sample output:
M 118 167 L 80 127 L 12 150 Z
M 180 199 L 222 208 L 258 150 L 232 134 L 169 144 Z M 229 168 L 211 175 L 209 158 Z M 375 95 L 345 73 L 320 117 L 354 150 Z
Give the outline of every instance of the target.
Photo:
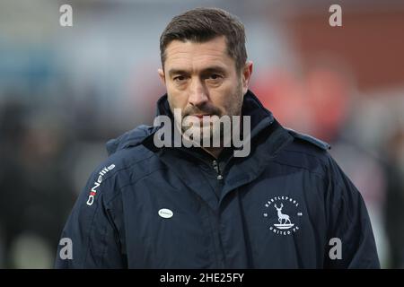
M 173 40 L 167 46 L 164 69 L 201 70 L 211 65 L 223 69 L 233 67 L 234 60 L 227 53 L 224 36 L 203 43 Z

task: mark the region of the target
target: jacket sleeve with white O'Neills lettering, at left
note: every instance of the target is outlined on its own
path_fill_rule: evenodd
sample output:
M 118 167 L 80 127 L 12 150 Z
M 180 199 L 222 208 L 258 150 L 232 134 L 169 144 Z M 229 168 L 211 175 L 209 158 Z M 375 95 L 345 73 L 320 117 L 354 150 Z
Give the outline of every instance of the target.
M 114 214 L 107 205 L 112 181 L 100 170 L 89 178 L 62 231 L 56 268 L 126 267 Z

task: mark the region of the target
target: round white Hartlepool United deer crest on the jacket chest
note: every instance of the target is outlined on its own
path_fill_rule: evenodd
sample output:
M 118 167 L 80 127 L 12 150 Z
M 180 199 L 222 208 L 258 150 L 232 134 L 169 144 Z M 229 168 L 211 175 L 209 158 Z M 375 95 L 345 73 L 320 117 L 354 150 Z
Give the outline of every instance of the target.
M 275 196 L 264 204 L 264 218 L 269 222 L 269 230 L 277 235 L 291 235 L 300 229 L 303 213 L 299 203 L 289 196 Z

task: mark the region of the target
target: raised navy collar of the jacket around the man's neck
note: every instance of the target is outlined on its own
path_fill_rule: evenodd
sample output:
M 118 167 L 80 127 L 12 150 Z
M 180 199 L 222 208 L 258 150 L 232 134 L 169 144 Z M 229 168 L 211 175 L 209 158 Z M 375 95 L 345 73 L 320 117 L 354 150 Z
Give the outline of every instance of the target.
M 173 118 L 167 95 L 158 100 L 157 115 Z M 293 136 L 277 123 L 272 113 L 262 106 L 251 91 L 247 91 L 244 95 L 242 116 L 250 116 L 250 154 L 244 158 L 232 159 L 229 169 L 225 170 L 224 189 L 219 202 L 211 192 L 206 191 L 206 184 L 198 176 L 198 167 L 189 164 L 189 154 L 181 152 L 180 149 L 155 150 L 154 147 L 154 152 L 157 152 L 161 161 L 214 210 L 223 202 L 224 197 L 237 187 L 259 178 L 277 153 L 293 141 Z M 152 137 L 153 135 L 148 136 L 149 141 L 145 144 L 146 146 L 154 145 Z

